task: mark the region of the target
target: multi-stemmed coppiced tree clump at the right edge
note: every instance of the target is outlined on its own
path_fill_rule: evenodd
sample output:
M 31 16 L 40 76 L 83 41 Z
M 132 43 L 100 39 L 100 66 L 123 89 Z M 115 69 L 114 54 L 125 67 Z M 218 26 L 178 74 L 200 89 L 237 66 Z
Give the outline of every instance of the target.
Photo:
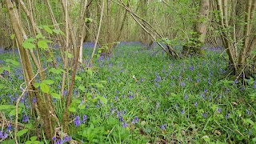
M 218 28 L 221 32 L 223 46 L 228 54 L 229 72 L 238 76 L 253 76 L 255 72 L 253 61 L 256 44 L 254 34 L 256 1 L 218 0 L 216 2 L 218 10 L 216 21 L 219 23 Z M 244 10 L 243 15 L 238 14 L 240 11 L 238 9 Z

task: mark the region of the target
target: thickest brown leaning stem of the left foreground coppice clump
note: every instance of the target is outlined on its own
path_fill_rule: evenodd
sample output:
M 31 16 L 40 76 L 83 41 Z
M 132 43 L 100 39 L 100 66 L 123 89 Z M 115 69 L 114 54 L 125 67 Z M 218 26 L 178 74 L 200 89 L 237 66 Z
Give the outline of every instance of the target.
M 26 33 L 22 27 L 20 19 L 18 18 L 18 10 L 14 7 L 13 3 L 9 0 L 4 1 L 6 3 L 6 7 L 8 9 L 8 13 L 10 15 L 10 22 L 13 26 L 14 33 L 18 42 L 18 50 L 20 51 L 20 57 L 22 61 L 22 70 L 25 74 L 26 84 L 30 84 L 28 86 L 28 90 L 30 90 L 30 98 L 37 98 L 37 106 L 39 111 L 39 116 L 41 118 L 41 124 L 43 130 L 46 134 L 46 138 L 52 138 L 54 132 L 54 122 L 51 117 L 49 108 L 49 103 L 42 96 L 40 96 L 38 90 L 34 87 L 34 72 L 32 68 L 32 64 L 29 58 L 29 52 L 22 47 L 23 38 L 26 38 Z M 42 71 L 40 71 L 42 72 Z M 49 97 L 49 95 L 48 95 Z

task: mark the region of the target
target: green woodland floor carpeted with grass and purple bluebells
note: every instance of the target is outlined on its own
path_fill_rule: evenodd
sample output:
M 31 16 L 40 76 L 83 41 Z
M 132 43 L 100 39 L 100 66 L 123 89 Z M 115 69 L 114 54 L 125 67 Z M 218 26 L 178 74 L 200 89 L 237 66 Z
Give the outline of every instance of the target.
M 87 66 L 93 43 L 84 45 Z M 180 47 L 176 46 L 179 50 Z M 58 46 L 56 60 L 62 68 Z M 156 52 L 158 51 L 158 52 Z M 226 55 L 221 48 L 206 48 L 205 57 L 168 58 L 158 46 L 121 42 L 111 57 L 95 57 L 91 68 L 78 69 L 70 106 L 70 136 L 53 137 L 55 143 L 72 139 L 84 143 L 253 143 L 256 142 L 256 81 L 226 78 Z M 10 70 L 0 78 L 0 106 L 15 105 L 24 81 L 17 51 L 0 50 L 0 65 Z M 62 74 L 50 72 L 43 61 L 51 91 L 59 92 Z M 24 88 L 25 86 L 23 86 Z M 64 91 L 67 95 L 67 91 Z M 25 94 L 21 99 L 18 141 L 45 143 L 38 138 L 36 120 Z M 63 105 L 53 98 L 56 114 Z M 0 142 L 14 142 L 14 114 L 1 109 Z

